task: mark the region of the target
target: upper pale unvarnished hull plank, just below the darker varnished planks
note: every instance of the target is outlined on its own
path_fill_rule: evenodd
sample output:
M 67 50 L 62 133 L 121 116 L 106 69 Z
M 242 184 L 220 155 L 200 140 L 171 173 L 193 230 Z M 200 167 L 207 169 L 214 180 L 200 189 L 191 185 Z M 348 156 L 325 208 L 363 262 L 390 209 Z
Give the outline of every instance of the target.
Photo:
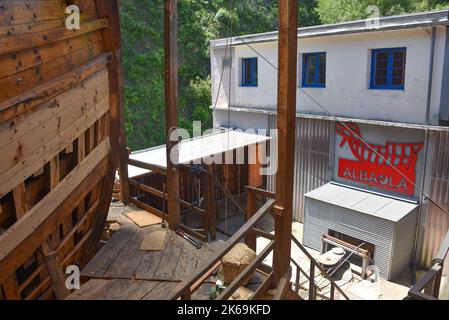
M 99 76 L 102 77 L 101 75 Z M 2 130 L 2 136 L 3 132 L 6 131 L 6 135 L 14 137 L 14 140 L 9 143 L 5 141 L 7 144 L 3 145 L 0 149 L 2 153 L 5 153 L 5 157 L 0 165 L 0 173 L 5 172 L 8 168 L 26 159 L 35 150 L 39 149 L 39 147 L 54 139 L 56 136 L 61 135 L 73 123 L 81 117 L 86 116 L 89 110 L 98 105 L 99 102 L 107 99 L 107 88 L 103 87 L 101 91 L 98 91 L 98 89 L 93 89 L 88 96 L 84 96 L 81 99 L 79 96 L 76 97 L 71 93 L 56 98 L 54 103 L 59 104 L 60 112 L 43 120 L 35 127 L 27 126 L 23 128 L 21 133 L 26 132 L 22 135 L 18 135 L 19 132 L 12 135 L 10 130 Z M 76 90 L 76 93 L 82 94 L 83 91 Z M 46 114 L 48 115 L 49 113 Z M 30 115 L 27 118 L 33 118 L 33 116 Z M 4 144 L 4 142 L 1 144 Z

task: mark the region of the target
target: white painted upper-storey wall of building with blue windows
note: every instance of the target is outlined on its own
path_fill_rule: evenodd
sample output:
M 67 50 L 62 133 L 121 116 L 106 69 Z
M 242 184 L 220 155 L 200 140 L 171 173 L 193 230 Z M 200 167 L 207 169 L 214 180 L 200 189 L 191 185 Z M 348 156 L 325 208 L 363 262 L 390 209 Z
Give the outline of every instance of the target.
M 444 61 L 445 27 L 438 27 L 435 48 L 430 120 L 438 124 Z M 277 66 L 277 42 L 251 46 Z M 371 90 L 371 49 L 407 47 L 405 90 Z M 298 41 L 298 83 L 302 77 L 302 53 L 327 53 L 326 88 L 303 88 L 332 113 L 351 118 L 424 124 L 431 52 L 431 28 L 370 32 Z M 224 49 L 212 50 L 213 103 L 217 97 Z M 234 48 L 230 104 L 233 107 L 275 109 L 277 71 L 258 57 L 258 87 L 241 87 L 241 59 L 256 57 L 248 46 Z M 223 92 L 225 91 L 225 92 Z M 326 114 L 298 87 L 298 112 Z M 225 70 L 217 108 L 229 103 L 229 69 Z M 216 121 L 222 122 L 222 113 Z

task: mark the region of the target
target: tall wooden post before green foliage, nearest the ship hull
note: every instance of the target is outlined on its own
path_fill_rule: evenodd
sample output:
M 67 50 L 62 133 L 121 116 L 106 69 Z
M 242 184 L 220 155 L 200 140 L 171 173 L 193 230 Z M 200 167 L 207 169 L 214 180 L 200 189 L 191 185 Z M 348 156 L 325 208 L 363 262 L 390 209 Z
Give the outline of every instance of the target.
M 176 230 L 180 225 L 179 170 L 172 149 L 178 143 L 170 135 L 178 128 L 178 52 L 177 52 L 177 0 L 165 0 L 164 48 L 165 48 L 165 123 L 167 139 L 167 194 L 168 223 Z M 173 154 L 176 154 L 174 152 Z

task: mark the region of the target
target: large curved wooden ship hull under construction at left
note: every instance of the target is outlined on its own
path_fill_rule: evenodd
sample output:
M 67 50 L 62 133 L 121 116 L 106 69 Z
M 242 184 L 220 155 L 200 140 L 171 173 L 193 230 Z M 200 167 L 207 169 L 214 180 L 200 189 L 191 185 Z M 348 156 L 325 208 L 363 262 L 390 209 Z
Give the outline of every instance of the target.
M 118 15 L 0 0 L 0 300 L 64 298 L 98 250 L 125 151 Z

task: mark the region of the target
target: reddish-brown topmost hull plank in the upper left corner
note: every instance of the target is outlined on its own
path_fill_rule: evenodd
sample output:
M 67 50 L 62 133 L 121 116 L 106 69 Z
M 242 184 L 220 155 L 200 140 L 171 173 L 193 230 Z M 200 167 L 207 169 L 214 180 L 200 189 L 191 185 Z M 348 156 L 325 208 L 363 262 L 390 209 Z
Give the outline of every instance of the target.
M 0 1 L 0 26 L 64 18 L 64 1 Z

